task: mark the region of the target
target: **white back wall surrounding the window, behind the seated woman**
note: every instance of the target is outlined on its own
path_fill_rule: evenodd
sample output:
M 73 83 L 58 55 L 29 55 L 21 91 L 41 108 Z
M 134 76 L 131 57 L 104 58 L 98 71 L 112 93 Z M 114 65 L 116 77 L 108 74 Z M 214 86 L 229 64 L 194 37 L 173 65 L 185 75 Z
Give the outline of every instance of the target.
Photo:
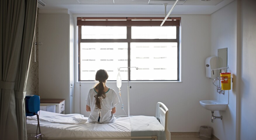
M 73 17 L 159 17 L 164 15 L 76 15 Z M 181 82 L 131 82 L 130 115 L 155 116 L 156 103 L 169 108 L 171 132 L 198 132 L 211 121 L 211 112 L 200 106 L 200 100 L 210 99 L 210 81 L 205 77 L 205 59 L 210 56 L 210 15 L 172 15 L 181 17 Z M 76 20 L 75 20 L 76 22 Z M 76 23 L 75 23 L 76 24 Z M 75 35 L 77 30 L 75 30 Z M 75 38 L 77 40 L 77 36 Z M 76 42 L 77 43 L 77 42 Z M 75 44 L 77 46 L 77 44 Z M 76 48 L 77 49 L 77 48 Z M 77 53 L 77 50 L 75 50 Z M 77 54 L 75 56 L 77 65 Z M 77 76 L 77 67 L 75 69 Z M 150 76 L 150 75 L 149 75 Z M 77 77 L 75 79 L 77 81 Z M 75 83 L 75 113 L 89 116 L 86 98 L 93 82 Z M 107 82 L 116 92 L 116 82 Z M 127 111 L 127 82 L 122 83 L 122 100 Z M 124 115 L 121 104 L 115 115 Z

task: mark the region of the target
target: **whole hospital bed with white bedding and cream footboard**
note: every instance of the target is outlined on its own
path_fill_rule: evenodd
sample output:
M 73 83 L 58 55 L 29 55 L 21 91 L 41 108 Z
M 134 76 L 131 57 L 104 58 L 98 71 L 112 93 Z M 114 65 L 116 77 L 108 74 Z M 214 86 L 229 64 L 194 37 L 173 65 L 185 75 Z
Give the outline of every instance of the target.
M 39 112 L 41 133 L 49 140 L 63 139 L 155 139 L 170 140 L 168 108 L 157 103 L 156 116 L 117 118 L 114 123 L 88 123 L 81 114 Z M 37 117 L 27 116 L 27 133 L 38 133 Z

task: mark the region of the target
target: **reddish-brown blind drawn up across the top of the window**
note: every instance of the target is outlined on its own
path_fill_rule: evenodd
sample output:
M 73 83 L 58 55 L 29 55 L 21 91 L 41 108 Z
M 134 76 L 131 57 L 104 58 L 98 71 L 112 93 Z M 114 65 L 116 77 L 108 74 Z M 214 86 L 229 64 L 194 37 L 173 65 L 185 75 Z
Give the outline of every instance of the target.
M 77 26 L 159 26 L 162 17 L 77 17 Z M 169 17 L 163 26 L 180 26 L 180 17 Z

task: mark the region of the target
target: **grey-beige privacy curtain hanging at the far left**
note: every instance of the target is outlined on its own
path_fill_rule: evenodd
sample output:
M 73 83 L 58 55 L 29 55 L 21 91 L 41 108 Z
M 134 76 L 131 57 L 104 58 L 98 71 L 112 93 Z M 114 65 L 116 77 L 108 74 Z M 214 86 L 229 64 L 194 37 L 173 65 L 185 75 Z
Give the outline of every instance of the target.
M 0 139 L 26 140 L 25 87 L 37 0 L 0 2 Z

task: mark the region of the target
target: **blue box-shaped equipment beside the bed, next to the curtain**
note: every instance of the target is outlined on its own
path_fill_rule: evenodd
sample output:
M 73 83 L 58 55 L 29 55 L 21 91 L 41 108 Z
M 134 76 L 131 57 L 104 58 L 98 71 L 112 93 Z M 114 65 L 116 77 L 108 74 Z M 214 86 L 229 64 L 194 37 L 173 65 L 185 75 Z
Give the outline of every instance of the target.
M 34 116 L 40 110 L 40 98 L 37 95 L 25 96 L 25 111 L 27 116 Z

